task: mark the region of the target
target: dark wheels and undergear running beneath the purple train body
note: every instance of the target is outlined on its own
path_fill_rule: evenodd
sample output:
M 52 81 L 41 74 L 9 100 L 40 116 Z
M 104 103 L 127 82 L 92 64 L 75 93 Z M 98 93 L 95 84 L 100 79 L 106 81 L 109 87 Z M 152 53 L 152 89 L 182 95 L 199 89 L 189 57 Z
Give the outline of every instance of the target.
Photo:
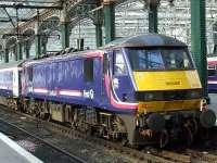
M 131 146 L 159 143 L 164 147 L 168 141 L 177 139 L 191 143 L 202 128 L 200 110 L 129 115 L 39 99 L 1 97 L 0 102 L 13 110 L 43 120 L 69 124 L 80 131 L 97 134 L 106 139 L 122 140 L 124 145 Z M 161 117 L 164 121 L 161 121 Z M 159 124 L 164 125 L 159 126 Z

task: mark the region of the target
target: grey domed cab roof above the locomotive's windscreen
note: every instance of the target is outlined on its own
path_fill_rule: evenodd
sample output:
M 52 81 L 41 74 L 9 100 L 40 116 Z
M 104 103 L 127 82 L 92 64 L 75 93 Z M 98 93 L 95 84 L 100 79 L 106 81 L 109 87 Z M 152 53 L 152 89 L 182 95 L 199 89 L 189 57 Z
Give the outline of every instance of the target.
M 106 49 L 115 47 L 187 47 L 187 45 L 165 35 L 146 34 L 116 39 L 105 46 Z

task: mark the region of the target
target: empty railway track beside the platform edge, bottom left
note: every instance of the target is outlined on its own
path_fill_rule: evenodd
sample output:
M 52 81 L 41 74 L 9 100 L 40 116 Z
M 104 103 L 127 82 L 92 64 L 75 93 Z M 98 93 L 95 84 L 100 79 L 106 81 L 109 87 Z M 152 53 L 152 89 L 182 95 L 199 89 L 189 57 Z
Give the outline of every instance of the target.
M 0 131 L 16 141 L 43 162 L 87 163 L 85 160 L 44 141 L 29 131 L 0 118 Z M 46 154 L 41 154 L 46 152 Z

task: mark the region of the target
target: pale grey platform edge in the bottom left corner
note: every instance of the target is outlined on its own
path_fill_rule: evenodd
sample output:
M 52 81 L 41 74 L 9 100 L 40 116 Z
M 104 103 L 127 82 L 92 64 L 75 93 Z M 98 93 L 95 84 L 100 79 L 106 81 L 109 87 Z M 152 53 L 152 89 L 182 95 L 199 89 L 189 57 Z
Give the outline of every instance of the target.
M 42 163 L 15 141 L 0 133 L 0 162 L 2 163 Z

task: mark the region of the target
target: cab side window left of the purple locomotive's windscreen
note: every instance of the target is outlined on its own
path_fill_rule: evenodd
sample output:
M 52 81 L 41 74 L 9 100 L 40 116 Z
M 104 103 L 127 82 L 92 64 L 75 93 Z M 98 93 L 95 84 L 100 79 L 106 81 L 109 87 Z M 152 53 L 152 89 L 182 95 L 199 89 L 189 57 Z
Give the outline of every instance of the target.
M 125 75 L 127 73 L 124 55 L 120 51 L 115 52 L 114 75 Z

